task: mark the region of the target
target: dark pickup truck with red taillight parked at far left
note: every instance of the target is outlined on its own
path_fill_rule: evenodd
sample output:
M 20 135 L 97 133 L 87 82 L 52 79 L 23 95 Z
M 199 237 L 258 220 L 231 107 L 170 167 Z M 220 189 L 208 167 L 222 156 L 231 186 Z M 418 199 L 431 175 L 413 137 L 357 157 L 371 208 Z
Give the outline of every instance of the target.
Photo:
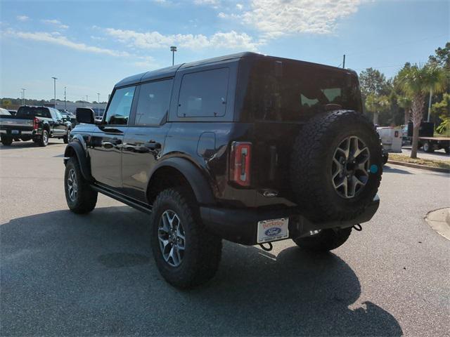
M 22 106 L 15 116 L 0 117 L 0 136 L 3 145 L 13 140 L 33 140 L 47 146 L 49 138 L 63 138 L 68 143 L 72 124 L 53 107 Z

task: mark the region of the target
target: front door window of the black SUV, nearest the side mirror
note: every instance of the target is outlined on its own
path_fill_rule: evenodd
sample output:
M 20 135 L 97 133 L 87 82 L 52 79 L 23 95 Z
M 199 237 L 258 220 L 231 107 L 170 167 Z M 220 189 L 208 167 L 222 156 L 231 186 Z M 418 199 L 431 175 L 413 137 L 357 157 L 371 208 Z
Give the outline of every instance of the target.
M 113 95 L 108 111 L 106 124 L 127 125 L 131 104 L 133 103 L 134 86 L 117 89 Z

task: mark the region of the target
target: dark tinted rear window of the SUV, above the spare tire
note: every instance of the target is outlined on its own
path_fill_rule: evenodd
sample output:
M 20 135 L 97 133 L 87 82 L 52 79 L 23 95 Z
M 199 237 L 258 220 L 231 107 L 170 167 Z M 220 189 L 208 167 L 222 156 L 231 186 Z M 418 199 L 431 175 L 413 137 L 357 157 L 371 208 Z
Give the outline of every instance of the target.
M 254 120 L 297 121 L 329 109 L 361 111 L 356 75 L 290 60 L 259 60 L 239 91 L 244 116 Z

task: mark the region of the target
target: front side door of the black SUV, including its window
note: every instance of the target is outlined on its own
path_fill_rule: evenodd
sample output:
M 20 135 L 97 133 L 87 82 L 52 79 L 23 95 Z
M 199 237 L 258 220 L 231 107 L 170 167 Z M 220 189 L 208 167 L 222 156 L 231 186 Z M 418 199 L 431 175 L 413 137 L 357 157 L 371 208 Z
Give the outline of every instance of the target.
M 135 86 L 127 86 L 114 91 L 103 122 L 89 141 L 92 176 L 98 183 L 115 190 L 122 187 L 122 145 L 135 89 Z

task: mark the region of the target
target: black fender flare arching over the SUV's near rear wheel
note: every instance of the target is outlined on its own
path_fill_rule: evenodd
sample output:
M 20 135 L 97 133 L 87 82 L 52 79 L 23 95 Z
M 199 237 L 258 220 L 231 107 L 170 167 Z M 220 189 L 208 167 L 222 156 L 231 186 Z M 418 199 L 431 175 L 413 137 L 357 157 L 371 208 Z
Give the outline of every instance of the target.
M 212 205 L 216 204 L 214 194 L 212 193 L 212 189 L 210 184 L 207 182 L 207 178 L 203 176 L 200 169 L 198 169 L 195 164 L 193 164 L 188 159 L 180 158 L 180 157 L 171 157 L 165 160 L 160 161 L 155 165 L 152 171 L 150 171 L 150 180 L 148 180 L 148 188 L 150 187 L 150 182 L 152 181 L 153 174 L 161 169 L 162 167 L 172 167 L 178 171 L 188 180 L 189 185 L 195 194 L 195 198 L 197 199 L 199 204 L 203 205 Z

